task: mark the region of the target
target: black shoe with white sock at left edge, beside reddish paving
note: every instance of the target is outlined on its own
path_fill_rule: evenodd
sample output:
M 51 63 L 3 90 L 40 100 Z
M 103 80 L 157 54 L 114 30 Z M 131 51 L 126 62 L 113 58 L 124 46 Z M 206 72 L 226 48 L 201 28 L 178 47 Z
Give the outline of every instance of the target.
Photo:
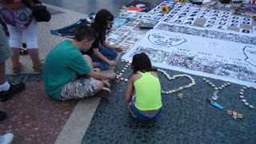
M 12 95 L 20 93 L 22 90 L 25 89 L 25 83 L 20 82 L 18 84 L 10 84 L 10 89 L 7 91 L 0 91 L 0 99 L 2 102 L 6 102 L 9 100 Z

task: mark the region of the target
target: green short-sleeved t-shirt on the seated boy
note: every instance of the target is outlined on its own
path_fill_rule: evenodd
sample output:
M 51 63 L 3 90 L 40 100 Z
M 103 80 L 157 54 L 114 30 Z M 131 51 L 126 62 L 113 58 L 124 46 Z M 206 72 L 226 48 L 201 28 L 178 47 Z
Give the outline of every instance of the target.
M 70 40 L 63 41 L 55 46 L 46 56 L 42 77 L 46 93 L 55 99 L 63 86 L 76 75 L 89 73 L 90 66 L 78 48 Z

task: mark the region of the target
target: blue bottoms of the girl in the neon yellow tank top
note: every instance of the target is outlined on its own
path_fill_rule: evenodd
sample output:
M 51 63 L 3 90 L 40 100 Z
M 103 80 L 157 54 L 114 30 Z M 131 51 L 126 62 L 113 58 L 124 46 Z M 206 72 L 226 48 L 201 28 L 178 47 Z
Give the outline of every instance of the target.
M 160 113 L 161 113 L 161 109 L 159 109 L 158 111 L 156 111 L 154 114 L 145 114 L 142 113 L 140 110 L 137 109 L 137 107 L 135 106 L 135 102 L 136 102 L 136 97 L 133 96 L 132 100 L 131 100 L 131 106 L 132 106 L 132 111 L 134 113 L 134 115 L 137 116 L 137 118 L 143 119 L 143 120 L 150 120 L 150 119 L 154 119 L 156 118 Z

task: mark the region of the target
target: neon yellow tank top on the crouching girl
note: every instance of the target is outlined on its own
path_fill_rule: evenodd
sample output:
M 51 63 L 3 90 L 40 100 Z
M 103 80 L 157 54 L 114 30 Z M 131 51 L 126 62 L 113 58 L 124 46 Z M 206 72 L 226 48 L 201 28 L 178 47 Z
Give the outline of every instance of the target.
M 138 110 L 158 110 L 162 107 L 161 85 L 159 79 L 150 72 L 142 73 L 142 78 L 134 82 Z

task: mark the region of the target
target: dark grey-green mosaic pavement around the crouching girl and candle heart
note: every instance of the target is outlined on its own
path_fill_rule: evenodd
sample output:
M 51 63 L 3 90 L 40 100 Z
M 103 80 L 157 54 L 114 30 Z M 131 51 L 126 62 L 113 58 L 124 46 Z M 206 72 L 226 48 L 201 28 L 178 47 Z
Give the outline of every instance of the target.
M 121 71 L 124 62 L 119 62 L 116 71 Z M 170 76 L 182 74 L 166 70 Z M 128 70 L 122 77 L 128 78 Z M 176 89 L 190 82 L 187 78 L 169 81 L 158 72 L 162 90 Z M 132 118 L 124 95 L 127 86 L 125 81 L 117 82 L 114 93 L 102 99 L 98 105 L 90 126 L 82 143 L 254 143 L 256 141 L 255 109 L 245 106 L 239 98 L 242 86 L 231 84 L 218 93 L 218 103 L 224 110 L 218 110 L 206 98 L 211 98 L 214 88 L 206 84 L 202 77 L 191 75 L 196 86 L 178 93 L 162 94 L 162 114 L 153 121 L 139 121 Z M 223 81 L 209 79 L 220 86 Z M 246 91 L 248 101 L 256 102 L 255 89 Z M 226 110 L 234 110 L 243 114 L 243 118 L 234 119 L 226 114 Z

